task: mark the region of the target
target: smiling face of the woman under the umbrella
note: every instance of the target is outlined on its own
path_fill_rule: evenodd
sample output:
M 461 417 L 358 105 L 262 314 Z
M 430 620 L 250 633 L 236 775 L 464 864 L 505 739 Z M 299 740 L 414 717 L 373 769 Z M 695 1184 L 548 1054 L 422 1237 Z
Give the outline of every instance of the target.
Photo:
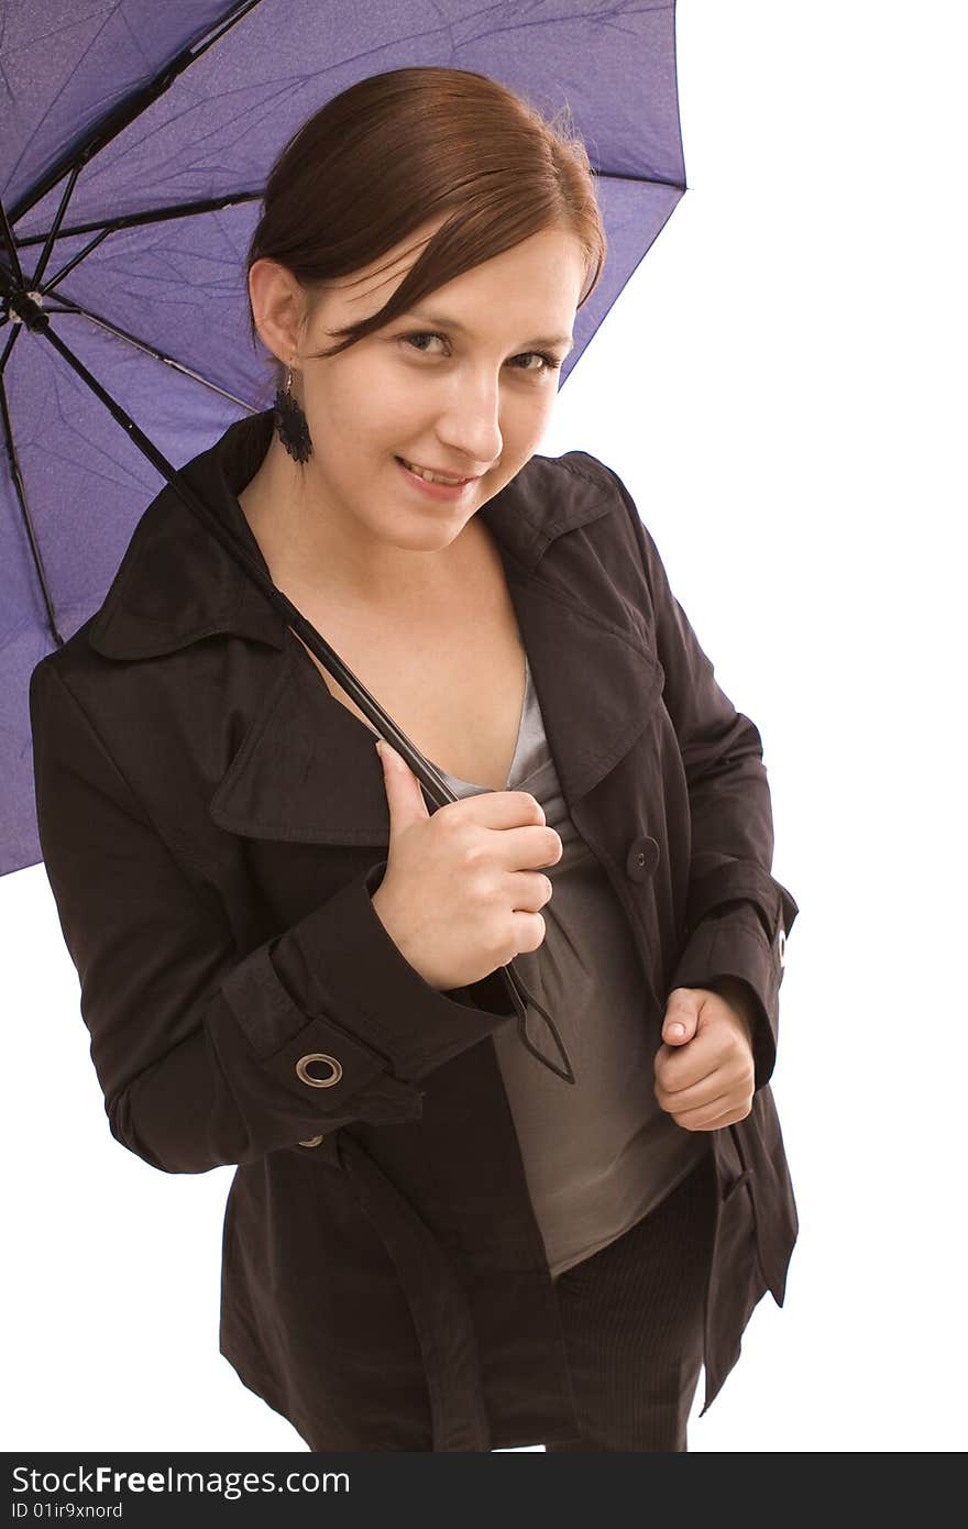
M 436 225 L 407 239 L 396 263 L 326 292 L 301 336 L 298 393 L 313 454 L 309 503 L 352 540 L 437 550 L 534 456 L 554 407 L 560 365 L 586 277 L 577 237 L 560 229 L 437 287 L 419 315 L 393 320 L 329 359 L 329 333 L 378 312 Z M 471 479 L 437 497 L 401 459 Z

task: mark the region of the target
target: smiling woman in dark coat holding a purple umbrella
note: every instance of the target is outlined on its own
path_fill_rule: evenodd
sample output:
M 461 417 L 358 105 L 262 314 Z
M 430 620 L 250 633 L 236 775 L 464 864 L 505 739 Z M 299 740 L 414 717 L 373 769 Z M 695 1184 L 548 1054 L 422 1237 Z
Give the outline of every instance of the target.
M 184 469 L 456 801 L 170 488 L 31 680 L 110 1128 L 239 1165 L 220 1349 L 313 1449 L 684 1451 L 783 1301 L 760 737 L 624 485 L 537 456 L 604 248 L 581 144 L 500 84 L 359 81 L 252 237 L 275 408 Z

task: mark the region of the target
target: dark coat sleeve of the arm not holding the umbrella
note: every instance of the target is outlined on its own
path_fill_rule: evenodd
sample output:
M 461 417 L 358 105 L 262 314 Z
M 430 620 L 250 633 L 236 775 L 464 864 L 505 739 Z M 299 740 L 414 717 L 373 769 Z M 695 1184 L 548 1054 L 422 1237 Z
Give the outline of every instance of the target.
M 662 558 L 618 474 L 653 602 L 656 651 L 665 671 L 662 699 L 688 781 L 691 864 L 687 937 L 670 983 L 711 988 L 725 977 L 745 985 L 752 1014 L 754 1089 L 769 1083 L 778 1041 L 778 994 L 786 937 L 798 907 L 771 875 L 774 826 L 763 743 L 714 679 L 690 621 L 673 595 Z

